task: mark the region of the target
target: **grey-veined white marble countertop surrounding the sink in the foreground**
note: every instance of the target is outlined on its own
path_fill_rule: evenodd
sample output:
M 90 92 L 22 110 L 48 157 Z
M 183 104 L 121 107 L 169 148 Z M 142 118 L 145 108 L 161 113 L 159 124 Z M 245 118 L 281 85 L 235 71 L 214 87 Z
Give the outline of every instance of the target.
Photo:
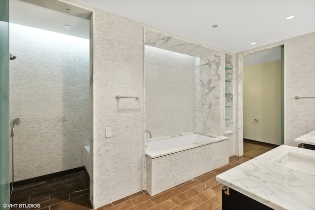
M 315 150 L 280 145 L 216 180 L 275 210 L 315 210 L 315 175 L 270 163 L 289 151 L 315 157 Z

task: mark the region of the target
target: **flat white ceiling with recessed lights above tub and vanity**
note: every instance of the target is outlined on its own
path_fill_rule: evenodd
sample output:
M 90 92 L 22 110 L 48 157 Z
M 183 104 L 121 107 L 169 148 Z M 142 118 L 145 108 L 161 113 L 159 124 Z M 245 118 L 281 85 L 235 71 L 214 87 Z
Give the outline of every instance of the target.
M 315 32 L 315 0 L 78 1 L 233 53 Z

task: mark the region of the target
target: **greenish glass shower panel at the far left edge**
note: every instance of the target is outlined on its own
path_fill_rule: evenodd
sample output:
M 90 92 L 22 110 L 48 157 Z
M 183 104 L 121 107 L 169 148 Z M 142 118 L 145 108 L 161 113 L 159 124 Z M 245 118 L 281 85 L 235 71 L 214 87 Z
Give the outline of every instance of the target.
M 0 209 L 9 209 L 9 0 L 0 0 Z

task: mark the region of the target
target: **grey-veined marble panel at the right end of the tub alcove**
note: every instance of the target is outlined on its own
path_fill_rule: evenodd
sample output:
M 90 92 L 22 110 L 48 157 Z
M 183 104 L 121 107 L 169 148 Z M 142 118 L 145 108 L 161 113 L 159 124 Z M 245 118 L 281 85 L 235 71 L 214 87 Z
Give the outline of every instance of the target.
M 220 52 L 196 59 L 196 128 L 201 133 L 221 132 Z

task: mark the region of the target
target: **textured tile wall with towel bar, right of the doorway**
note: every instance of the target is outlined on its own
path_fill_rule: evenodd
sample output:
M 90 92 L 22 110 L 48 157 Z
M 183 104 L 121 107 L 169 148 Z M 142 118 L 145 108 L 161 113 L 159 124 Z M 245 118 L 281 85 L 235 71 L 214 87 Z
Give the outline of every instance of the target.
M 315 33 L 286 40 L 285 144 L 297 146 L 295 138 L 315 130 Z

